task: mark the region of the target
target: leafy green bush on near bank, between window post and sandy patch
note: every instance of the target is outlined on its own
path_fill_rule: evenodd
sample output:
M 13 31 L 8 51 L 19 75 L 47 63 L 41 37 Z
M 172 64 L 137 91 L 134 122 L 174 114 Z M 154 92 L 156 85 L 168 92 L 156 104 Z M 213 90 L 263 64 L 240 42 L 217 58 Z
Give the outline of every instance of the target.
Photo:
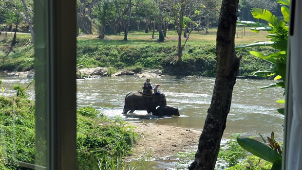
M 131 151 L 135 137 L 133 127 L 126 128 L 120 118 L 95 118 L 98 113 L 93 107 L 87 106 L 80 108 L 77 114 L 76 144 L 78 169 L 81 170 L 92 170 L 98 166 L 102 166 L 101 169 L 105 168 L 103 166 L 113 167 L 120 164 L 120 158 Z

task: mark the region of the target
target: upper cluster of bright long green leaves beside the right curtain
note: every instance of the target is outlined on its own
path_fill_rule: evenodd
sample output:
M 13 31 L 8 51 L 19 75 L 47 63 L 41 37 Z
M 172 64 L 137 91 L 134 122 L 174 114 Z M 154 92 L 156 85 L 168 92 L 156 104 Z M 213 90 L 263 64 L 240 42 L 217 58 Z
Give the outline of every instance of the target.
M 289 4 L 289 0 L 277 1 L 282 4 Z M 237 50 L 248 47 L 263 47 L 270 46 L 276 51 L 270 53 L 261 53 L 260 51 L 250 51 L 250 53 L 256 57 L 262 58 L 272 64 L 270 70 L 258 71 L 255 76 L 275 76 L 275 80 L 278 80 L 278 86 L 285 88 L 284 82 L 286 81 L 286 56 L 287 56 L 287 40 L 288 40 L 288 21 L 289 21 L 289 9 L 286 6 L 281 7 L 283 19 L 279 19 L 271 12 L 265 9 L 252 8 L 251 13 L 254 18 L 262 19 L 268 24 L 264 25 L 259 22 L 249 21 L 237 21 L 238 24 L 245 26 L 253 26 L 252 31 L 259 33 L 260 31 L 266 31 L 269 38 L 268 41 L 257 42 L 249 45 L 238 46 Z M 271 71 L 271 74 L 267 74 L 267 71 Z M 263 74 L 261 74 L 263 73 Z M 278 79 L 276 79 L 278 77 Z M 277 83 L 276 83 L 277 84 Z M 271 87 L 271 86 L 270 86 Z

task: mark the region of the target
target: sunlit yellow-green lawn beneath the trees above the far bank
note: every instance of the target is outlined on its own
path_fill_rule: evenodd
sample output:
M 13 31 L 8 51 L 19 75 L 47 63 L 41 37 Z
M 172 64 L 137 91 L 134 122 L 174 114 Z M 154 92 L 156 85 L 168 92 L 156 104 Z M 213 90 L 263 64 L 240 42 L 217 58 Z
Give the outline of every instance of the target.
M 187 45 L 205 45 L 216 44 L 216 29 L 210 29 L 209 34 L 205 31 L 192 32 L 189 36 Z M 238 34 L 237 34 L 238 32 Z M 243 35 L 245 33 L 245 35 Z M 151 38 L 152 32 L 145 34 L 143 32 L 130 32 L 128 34 L 128 41 L 123 41 L 124 35 L 105 35 L 105 39 L 98 39 L 98 35 L 85 35 L 82 34 L 77 37 L 78 46 L 101 46 L 101 45 L 117 45 L 117 46 L 177 46 L 178 36 L 175 31 L 168 31 L 165 42 L 158 42 L 158 32 L 155 32 L 154 39 Z M 266 41 L 266 32 L 254 33 L 250 31 L 250 28 L 240 27 L 236 30 L 235 43 L 236 44 L 250 44 L 255 41 Z M 185 38 L 182 37 L 182 43 L 185 42 Z

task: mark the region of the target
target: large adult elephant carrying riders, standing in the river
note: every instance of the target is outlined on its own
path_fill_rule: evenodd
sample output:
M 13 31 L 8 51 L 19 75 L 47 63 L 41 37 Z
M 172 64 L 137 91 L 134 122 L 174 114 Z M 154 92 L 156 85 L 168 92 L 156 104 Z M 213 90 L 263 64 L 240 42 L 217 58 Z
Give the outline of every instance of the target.
M 133 91 L 126 95 L 125 105 L 122 114 L 134 112 L 134 110 L 147 110 L 147 113 L 156 112 L 157 106 L 167 105 L 166 96 L 164 93 L 153 94 L 152 97 L 143 97 L 142 92 Z

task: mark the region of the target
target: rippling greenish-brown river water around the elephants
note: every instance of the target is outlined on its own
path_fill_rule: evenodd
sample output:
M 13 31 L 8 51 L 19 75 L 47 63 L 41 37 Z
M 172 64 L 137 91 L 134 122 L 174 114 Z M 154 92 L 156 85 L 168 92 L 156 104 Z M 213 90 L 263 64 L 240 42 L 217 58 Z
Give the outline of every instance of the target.
M 16 95 L 13 85 L 28 85 L 31 79 L 8 77 L 0 73 L 2 95 Z M 145 77 L 119 76 L 101 77 L 94 79 L 78 79 L 77 82 L 77 107 L 89 104 L 101 110 L 106 116 L 122 116 L 124 99 L 131 91 L 142 90 Z M 171 125 L 188 129 L 202 130 L 207 111 L 211 102 L 215 78 L 206 77 L 151 77 L 151 84 L 161 84 L 159 90 L 167 98 L 167 105 L 177 107 L 180 117 L 156 120 L 157 124 Z M 282 88 L 260 87 L 274 83 L 273 80 L 237 79 L 233 90 L 230 112 L 227 117 L 227 127 L 224 137 L 234 133 L 243 136 L 270 136 L 274 131 L 277 141 L 283 138 L 283 115 L 276 110 L 283 104 L 276 100 L 284 99 Z M 35 99 L 34 86 L 27 92 L 31 99 Z M 146 111 L 135 111 L 137 114 L 147 114 Z M 142 121 L 139 119 L 125 118 L 126 121 Z M 154 122 L 155 119 L 143 120 Z

